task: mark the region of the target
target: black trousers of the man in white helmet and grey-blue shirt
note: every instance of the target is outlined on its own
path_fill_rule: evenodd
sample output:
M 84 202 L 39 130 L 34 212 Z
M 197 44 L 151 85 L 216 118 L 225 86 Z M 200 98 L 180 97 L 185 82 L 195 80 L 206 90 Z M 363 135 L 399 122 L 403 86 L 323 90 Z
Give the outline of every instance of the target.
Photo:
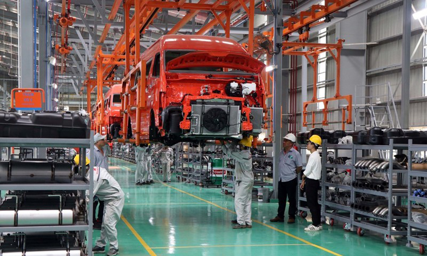
M 289 198 L 289 218 L 295 218 L 296 212 L 296 186 L 298 185 L 297 178 L 282 182 L 279 180 L 278 186 L 278 199 L 279 199 L 279 208 L 277 209 L 277 216 L 279 218 L 284 218 L 285 209 L 286 209 L 286 200 Z

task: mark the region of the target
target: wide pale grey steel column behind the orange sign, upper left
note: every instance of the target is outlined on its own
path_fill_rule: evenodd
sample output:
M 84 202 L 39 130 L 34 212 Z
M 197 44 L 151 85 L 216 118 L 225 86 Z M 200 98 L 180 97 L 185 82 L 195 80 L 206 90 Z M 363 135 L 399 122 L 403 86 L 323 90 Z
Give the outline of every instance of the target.
M 26 0 L 18 2 L 18 72 L 19 87 L 32 88 L 34 86 L 34 39 L 32 24 L 32 4 Z

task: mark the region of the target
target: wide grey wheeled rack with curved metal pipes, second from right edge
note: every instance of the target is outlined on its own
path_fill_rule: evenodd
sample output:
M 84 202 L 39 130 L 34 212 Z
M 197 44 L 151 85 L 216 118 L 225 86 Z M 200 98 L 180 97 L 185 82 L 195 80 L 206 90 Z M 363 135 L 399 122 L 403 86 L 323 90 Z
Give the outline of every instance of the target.
M 407 144 L 394 144 L 393 139 L 390 139 L 389 145 L 354 145 L 353 150 L 353 161 L 356 163 L 357 160 L 357 151 L 359 150 L 383 150 L 389 151 L 389 169 L 385 172 L 388 176 L 389 187 L 387 192 L 381 192 L 371 189 L 361 189 L 361 188 L 353 188 L 351 192 L 351 200 L 352 203 L 355 203 L 356 193 L 365 193 L 369 195 L 379 195 L 387 198 L 388 200 L 388 209 L 392 209 L 393 205 L 393 197 L 396 198 L 396 204 L 401 201 L 402 197 L 407 197 L 407 192 L 393 192 L 394 186 L 401 186 L 401 180 L 398 179 L 396 185 L 393 185 L 393 174 L 394 173 L 406 173 L 407 170 L 401 169 L 393 169 L 393 149 L 408 149 Z M 363 169 L 353 169 L 351 172 L 351 180 L 356 180 L 356 172 L 369 172 Z M 401 184 L 399 184 L 401 183 Z M 367 220 L 363 220 L 367 219 Z M 353 209 L 351 213 L 351 225 L 354 227 L 360 228 L 358 230 L 358 234 L 363 235 L 363 229 L 372 230 L 377 233 L 381 233 L 384 235 L 384 241 L 386 243 L 392 242 L 391 236 L 405 236 L 407 235 L 407 231 L 404 230 L 407 227 L 407 224 L 402 222 L 402 220 L 407 219 L 407 216 L 395 216 L 392 215 L 392 211 L 389 211 L 387 217 L 380 217 L 373 215 L 370 212 L 360 211 L 358 209 Z

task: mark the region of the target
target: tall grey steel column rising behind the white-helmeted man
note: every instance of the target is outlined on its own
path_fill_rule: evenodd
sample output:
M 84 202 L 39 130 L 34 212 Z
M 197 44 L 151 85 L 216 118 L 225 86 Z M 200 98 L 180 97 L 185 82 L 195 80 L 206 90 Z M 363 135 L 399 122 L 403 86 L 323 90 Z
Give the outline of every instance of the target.
M 282 20 L 282 0 L 274 1 L 274 46 L 281 44 L 283 39 L 283 20 Z M 273 56 L 273 64 L 277 66 L 274 70 L 274 96 L 273 96 L 273 195 L 272 198 L 277 198 L 278 181 L 279 181 L 279 154 L 282 150 L 282 131 L 281 131 L 281 107 L 282 107 L 282 47 L 274 47 L 277 52 Z

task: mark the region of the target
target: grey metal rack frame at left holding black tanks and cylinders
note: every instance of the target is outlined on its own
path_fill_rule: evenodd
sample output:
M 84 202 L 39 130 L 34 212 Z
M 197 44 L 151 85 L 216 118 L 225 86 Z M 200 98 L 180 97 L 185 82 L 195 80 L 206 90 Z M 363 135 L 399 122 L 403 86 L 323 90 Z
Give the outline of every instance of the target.
M 94 161 L 94 134 L 91 132 L 90 139 L 50 139 L 50 138 L 0 138 L 0 147 L 79 147 L 80 154 L 84 154 L 86 148 L 90 149 L 90 160 Z M 84 161 L 84 157 L 80 158 Z M 82 175 L 75 177 L 71 184 L 0 184 L 2 190 L 81 190 L 82 196 L 89 190 L 89 207 L 87 220 L 78 221 L 74 225 L 61 226 L 22 226 L 22 227 L 0 227 L 0 233 L 8 232 L 48 232 L 48 231 L 79 231 L 80 237 L 85 237 L 85 231 L 88 231 L 88 240 L 86 244 L 86 255 L 92 255 L 92 236 L 93 236 L 93 200 L 94 200 L 94 172 L 89 172 L 90 181 L 86 180 L 86 170 L 82 168 Z

